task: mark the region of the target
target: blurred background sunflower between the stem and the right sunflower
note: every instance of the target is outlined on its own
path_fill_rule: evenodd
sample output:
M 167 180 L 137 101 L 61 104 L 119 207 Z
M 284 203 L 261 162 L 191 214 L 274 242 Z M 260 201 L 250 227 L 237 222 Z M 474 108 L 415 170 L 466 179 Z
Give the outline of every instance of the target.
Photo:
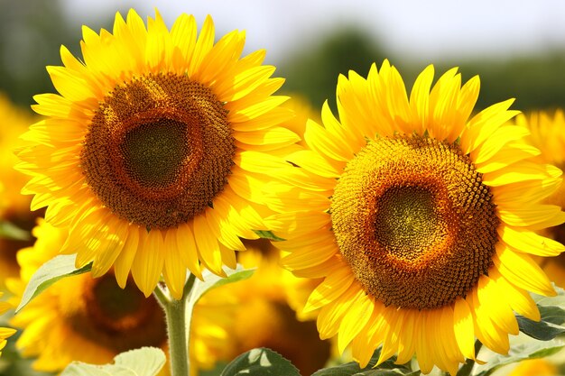
M 238 261 L 245 268 L 257 268 L 254 275 L 210 290 L 194 309 L 197 319 L 215 317 L 225 334 L 216 346 L 218 351 L 199 353 L 194 365 L 205 370 L 215 362 L 230 362 L 241 353 L 267 347 L 289 359 L 303 375 L 318 371 L 332 354 L 331 344 L 320 340 L 311 317 L 299 319 L 295 310 L 295 305 L 300 306 L 300 296 L 305 295 L 303 291 L 311 292 L 315 286 L 283 270 L 280 252 L 268 241 L 247 241 L 245 245 L 248 251 L 239 253 Z M 193 332 L 199 328 L 195 324 Z M 211 341 L 206 344 L 209 349 Z

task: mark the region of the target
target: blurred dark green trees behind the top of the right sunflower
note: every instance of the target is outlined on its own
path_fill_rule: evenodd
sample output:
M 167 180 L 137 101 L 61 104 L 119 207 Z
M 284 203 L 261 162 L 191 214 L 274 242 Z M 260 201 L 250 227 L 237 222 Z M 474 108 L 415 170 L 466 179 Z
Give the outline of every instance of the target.
M 394 56 L 356 27 L 336 30 L 319 44 L 301 46 L 291 53 L 281 64 L 281 75 L 287 78 L 284 90 L 307 96 L 315 108 L 326 99 L 335 108 L 338 75 L 347 75 L 353 69 L 366 77 L 371 64 L 376 62 L 380 68 L 384 59 L 400 70 L 409 91 L 416 76 L 432 63 L 436 78 L 453 67 L 459 67 L 464 81 L 479 75 L 477 109 L 508 98 L 516 98 L 513 108 L 522 111 L 565 107 L 565 46 L 562 50 L 504 59 L 482 56 L 472 60 L 416 61 Z

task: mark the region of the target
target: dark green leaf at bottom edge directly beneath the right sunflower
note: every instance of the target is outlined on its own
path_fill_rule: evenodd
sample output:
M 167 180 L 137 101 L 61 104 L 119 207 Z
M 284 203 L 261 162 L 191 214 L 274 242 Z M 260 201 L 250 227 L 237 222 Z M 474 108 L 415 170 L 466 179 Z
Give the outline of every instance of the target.
M 365 368 L 359 367 L 357 362 L 348 362 L 335 367 L 321 369 L 312 373 L 312 376 L 417 376 L 421 373 L 420 371 L 412 371 L 410 363 L 394 364 L 396 361 L 394 356 L 375 368 L 380 354 L 381 349 L 376 349 Z

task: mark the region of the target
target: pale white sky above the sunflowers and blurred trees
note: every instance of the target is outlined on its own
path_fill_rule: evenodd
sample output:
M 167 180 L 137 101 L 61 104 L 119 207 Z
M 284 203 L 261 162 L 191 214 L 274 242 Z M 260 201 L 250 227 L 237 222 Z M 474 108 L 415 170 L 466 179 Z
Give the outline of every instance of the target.
M 113 19 L 134 7 L 146 18 L 156 7 L 171 25 L 181 13 L 199 25 L 211 14 L 217 35 L 246 31 L 245 50 L 267 50 L 267 62 L 315 42 L 339 25 L 355 24 L 401 56 L 468 59 L 565 50 L 565 0 L 64 0 L 76 23 Z

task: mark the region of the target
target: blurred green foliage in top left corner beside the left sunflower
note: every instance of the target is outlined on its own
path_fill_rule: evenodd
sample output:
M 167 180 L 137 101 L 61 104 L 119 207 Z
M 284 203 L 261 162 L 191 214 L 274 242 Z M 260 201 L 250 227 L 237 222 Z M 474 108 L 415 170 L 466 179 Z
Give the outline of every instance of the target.
M 36 94 L 55 92 L 45 67 L 61 64 L 60 46 L 80 56 L 81 24 L 112 30 L 114 13 L 69 20 L 60 0 L 0 0 L 0 92 L 23 106 L 34 104 Z

